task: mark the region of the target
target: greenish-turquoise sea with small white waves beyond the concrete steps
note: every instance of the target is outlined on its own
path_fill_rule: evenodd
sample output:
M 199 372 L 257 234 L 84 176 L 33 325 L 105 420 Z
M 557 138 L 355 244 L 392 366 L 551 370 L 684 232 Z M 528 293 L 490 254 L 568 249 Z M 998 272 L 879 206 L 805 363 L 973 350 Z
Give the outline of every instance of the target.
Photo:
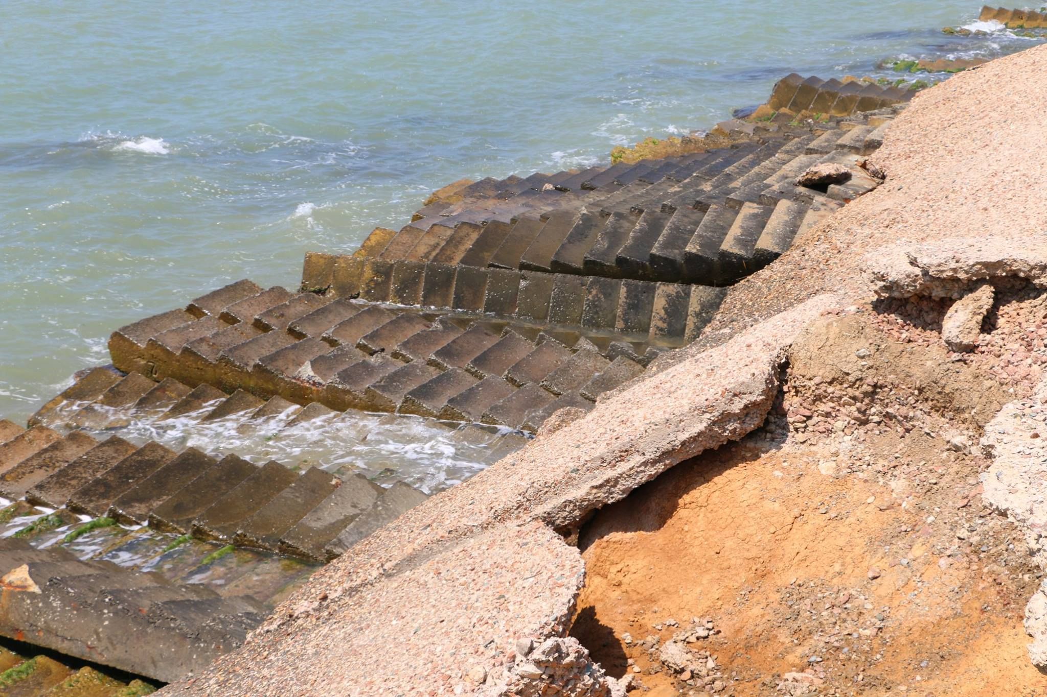
M 428 191 L 604 161 L 708 127 L 797 71 L 996 54 L 980 3 L 6 0 L 0 415 L 107 362 L 109 332 L 307 250 L 399 227 Z

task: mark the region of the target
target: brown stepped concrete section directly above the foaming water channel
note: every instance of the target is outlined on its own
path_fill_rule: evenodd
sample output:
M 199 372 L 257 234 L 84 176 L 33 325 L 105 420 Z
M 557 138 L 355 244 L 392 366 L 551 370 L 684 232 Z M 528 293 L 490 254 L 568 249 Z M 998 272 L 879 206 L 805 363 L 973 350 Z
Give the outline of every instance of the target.
M 715 288 L 510 271 L 486 272 L 480 284 L 466 274 L 483 277 L 484 270 L 435 263 L 415 266 L 421 274 L 413 282 L 423 296 L 428 283 L 446 311 L 339 297 L 392 300 L 394 276 L 397 287 L 405 284 L 404 268 L 387 263 L 379 278 L 372 266 L 359 257 L 309 255 L 307 284 L 330 270 L 332 292 L 292 295 L 239 281 L 185 309 L 121 327 L 110 353 L 129 376 L 106 386 L 98 403 L 134 398 L 151 408 L 161 395 L 179 396 L 160 415 L 171 418 L 231 393 L 231 404 L 214 409 L 262 410 L 262 400 L 280 397 L 284 409 L 306 404 L 307 416 L 395 412 L 533 432 L 556 409 L 591 409 L 661 351 L 696 335 L 722 298 Z M 481 303 L 498 311 L 456 309 Z M 550 324 L 551 316 L 564 323 Z M 192 391 L 183 394 L 176 382 Z M 75 391 L 70 398 L 83 399 Z M 73 425 L 81 422 L 73 417 Z

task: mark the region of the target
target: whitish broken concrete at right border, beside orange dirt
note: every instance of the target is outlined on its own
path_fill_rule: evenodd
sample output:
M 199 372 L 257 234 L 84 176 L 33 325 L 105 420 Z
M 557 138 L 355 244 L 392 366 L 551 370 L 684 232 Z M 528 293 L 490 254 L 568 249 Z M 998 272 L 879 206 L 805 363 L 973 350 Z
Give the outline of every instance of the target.
M 1047 570 L 1047 433 L 1032 418 L 1047 411 L 1047 378 L 1027 399 L 1017 399 L 985 425 L 980 445 L 993 464 L 981 474 L 982 498 L 1005 513 L 1025 534 L 1029 554 Z M 1039 457 L 1038 457 L 1039 456 Z M 1025 607 L 1024 626 L 1032 637 L 1029 659 L 1047 670 L 1047 580 Z

